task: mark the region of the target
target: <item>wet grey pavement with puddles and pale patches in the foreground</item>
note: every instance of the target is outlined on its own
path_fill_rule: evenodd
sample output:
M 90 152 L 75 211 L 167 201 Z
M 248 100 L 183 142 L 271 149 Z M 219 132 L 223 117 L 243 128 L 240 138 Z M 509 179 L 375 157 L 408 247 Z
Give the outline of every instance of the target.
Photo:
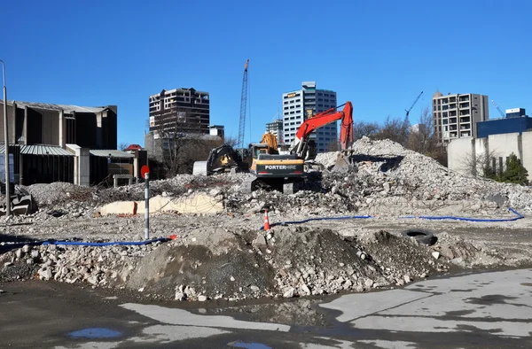
M 138 300 L 64 283 L 0 288 L 0 347 L 532 347 L 532 269 L 325 299 L 224 306 Z

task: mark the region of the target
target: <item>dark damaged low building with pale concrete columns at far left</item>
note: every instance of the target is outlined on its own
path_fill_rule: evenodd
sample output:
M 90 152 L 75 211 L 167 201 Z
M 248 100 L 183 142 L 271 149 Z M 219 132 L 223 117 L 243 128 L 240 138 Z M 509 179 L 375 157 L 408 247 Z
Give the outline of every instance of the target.
M 4 120 L 4 101 L 0 116 Z M 8 101 L 12 182 L 94 185 L 113 174 L 138 176 L 142 151 L 116 151 L 117 106 L 87 107 Z M 4 161 L 4 123 L 0 122 Z M 4 178 L 4 167 L 0 169 Z

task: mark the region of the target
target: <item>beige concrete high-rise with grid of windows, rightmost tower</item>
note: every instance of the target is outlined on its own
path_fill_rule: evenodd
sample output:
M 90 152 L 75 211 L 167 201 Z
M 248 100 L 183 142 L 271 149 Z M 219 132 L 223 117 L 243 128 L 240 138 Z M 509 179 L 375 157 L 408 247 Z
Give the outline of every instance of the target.
M 488 96 L 473 93 L 433 96 L 434 135 L 447 144 L 461 137 L 476 137 L 476 123 L 489 119 Z

